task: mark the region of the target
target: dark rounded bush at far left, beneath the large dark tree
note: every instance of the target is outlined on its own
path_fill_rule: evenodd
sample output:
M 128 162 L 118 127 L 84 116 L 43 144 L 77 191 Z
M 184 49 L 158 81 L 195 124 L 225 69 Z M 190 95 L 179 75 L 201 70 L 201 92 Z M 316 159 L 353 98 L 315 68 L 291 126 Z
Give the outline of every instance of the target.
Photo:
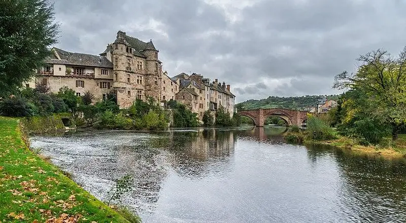
M 0 102 L 0 114 L 9 117 L 26 117 L 36 115 L 37 107 L 25 98 L 13 96 Z

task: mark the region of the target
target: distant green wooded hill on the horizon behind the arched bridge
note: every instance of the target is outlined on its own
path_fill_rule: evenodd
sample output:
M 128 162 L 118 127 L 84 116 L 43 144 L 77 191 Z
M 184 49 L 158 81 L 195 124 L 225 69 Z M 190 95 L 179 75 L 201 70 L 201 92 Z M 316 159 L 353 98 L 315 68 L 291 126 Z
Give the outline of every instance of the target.
M 255 108 L 290 108 L 304 110 L 316 106 L 317 99 L 326 97 L 328 100 L 339 100 L 340 95 L 306 95 L 300 97 L 269 96 L 261 100 L 248 100 L 235 105 L 239 110 Z M 243 108 L 244 107 L 244 108 Z

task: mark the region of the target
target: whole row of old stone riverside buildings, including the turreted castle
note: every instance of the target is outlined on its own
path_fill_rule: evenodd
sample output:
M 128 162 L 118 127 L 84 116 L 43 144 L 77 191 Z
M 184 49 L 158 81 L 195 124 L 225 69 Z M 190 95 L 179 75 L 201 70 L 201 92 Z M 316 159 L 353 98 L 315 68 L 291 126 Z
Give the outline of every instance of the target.
M 114 92 L 121 108 L 134 100 L 153 97 L 163 105 L 176 99 L 197 113 L 199 120 L 206 110 L 215 112 L 220 106 L 232 116 L 235 96 L 230 86 L 193 73 L 180 73 L 170 78 L 162 72 L 159 51 L 152 40 L 143 42 L 118 31 L 116 40 L 99 55 L 73 53 L 58 48 L 51 50 L 47 64 L 37 70 L 37 76 L 27 87 L 36 83 L 49 85 L 52 92 L 63 86 L 76 91 L 78 96 L 90 91 L 99 101 Z

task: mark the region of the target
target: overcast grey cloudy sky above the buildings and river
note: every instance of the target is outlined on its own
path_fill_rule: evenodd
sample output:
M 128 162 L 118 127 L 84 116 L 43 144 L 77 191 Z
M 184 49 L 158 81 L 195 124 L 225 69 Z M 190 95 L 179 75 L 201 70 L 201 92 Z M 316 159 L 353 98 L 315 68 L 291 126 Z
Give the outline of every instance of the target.
M 152 39 L 163 70 L 231 85 L 236 101 L 329 95 L 356 58 L 406 45 L 403 0 L 55 0 L 56 47 L 99 54 L 117 31 Z

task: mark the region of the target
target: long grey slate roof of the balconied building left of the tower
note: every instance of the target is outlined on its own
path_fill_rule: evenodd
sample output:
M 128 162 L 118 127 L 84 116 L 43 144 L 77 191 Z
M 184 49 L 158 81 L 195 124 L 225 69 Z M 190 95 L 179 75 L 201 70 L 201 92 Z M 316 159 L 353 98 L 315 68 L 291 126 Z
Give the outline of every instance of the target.
M 52 50 L 59 56 L 60 59 L 47 58 L 45 59 L 45 63 L 113 68 L 113 63 L 104 56 L 72 53 L 56 47 L 52 48 Z

